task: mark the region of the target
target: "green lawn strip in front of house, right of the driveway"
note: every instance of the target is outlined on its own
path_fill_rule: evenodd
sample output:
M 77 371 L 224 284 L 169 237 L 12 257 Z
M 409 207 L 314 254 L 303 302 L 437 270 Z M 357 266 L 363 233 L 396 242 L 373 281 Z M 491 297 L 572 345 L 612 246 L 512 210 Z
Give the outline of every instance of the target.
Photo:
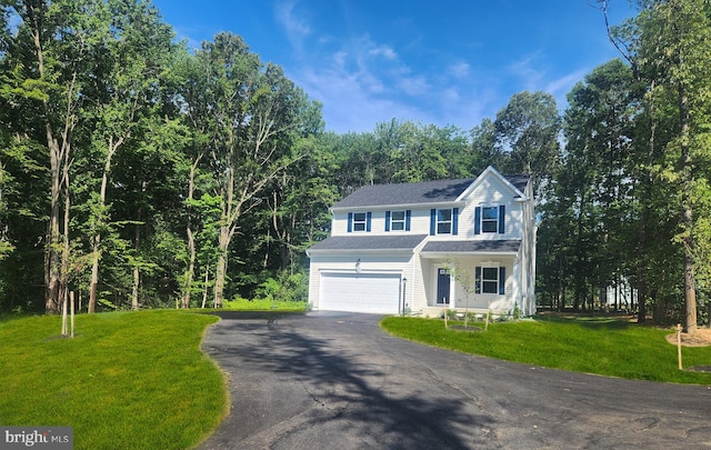
M 461 324 L 451 322 L 450 324 Z M 479 322 L 483 329 L 483 323 Z M 671 330 L 609 318 L 538 318 L 490 323 L 488 331 L 444 329 L 439 319 L 391 317 L 388 332 L 434 347 L 583 373 L 638 380 L 711 384 L 711 373 L 678 369 Z M 711 347 L 682 348 L 683 366 L 711 366 Z

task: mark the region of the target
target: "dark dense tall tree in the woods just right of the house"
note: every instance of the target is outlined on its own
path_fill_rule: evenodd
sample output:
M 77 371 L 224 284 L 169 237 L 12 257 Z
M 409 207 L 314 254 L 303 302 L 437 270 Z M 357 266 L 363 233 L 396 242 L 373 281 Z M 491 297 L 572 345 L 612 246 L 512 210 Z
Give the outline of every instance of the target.
M 615 59 L 595 68 L 568 96 L 567 140 L 559 191 L 575 207 L 574 302 L 593 289 L 617 286 L 632 254 L 627 223 L 631 198 L 631 148 L 639 99 L 631 70 Z

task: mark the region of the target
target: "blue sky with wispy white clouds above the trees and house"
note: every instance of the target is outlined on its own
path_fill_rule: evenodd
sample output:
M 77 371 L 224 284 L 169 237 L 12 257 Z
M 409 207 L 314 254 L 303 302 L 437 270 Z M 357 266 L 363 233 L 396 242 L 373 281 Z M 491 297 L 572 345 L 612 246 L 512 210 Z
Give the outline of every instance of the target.
M 612 23 L 634 16 L 610 0 Z M 470 130 L 512 94 L 565 94 L 619 56 L 595 0 L 153 0 L 179 39 L 241 36 L 323 103 L 327 130 L 412 120 Z

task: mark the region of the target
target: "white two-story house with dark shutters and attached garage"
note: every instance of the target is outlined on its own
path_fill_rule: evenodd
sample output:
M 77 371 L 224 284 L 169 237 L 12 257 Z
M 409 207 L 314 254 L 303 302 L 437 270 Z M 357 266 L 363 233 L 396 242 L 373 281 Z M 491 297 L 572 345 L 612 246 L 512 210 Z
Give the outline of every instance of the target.
M 316 310 L 438 316 L 535 312 L 529 176 L 365 186 L 331 207 L 308 250 Z

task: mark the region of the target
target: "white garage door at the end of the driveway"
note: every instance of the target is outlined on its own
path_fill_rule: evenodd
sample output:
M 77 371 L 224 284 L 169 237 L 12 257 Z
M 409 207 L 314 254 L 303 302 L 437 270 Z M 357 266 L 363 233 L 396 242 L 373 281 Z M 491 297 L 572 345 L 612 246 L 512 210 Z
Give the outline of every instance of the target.
M 397 314 L 400 276 L 392 273 L 321 273 L 319 309 Z

